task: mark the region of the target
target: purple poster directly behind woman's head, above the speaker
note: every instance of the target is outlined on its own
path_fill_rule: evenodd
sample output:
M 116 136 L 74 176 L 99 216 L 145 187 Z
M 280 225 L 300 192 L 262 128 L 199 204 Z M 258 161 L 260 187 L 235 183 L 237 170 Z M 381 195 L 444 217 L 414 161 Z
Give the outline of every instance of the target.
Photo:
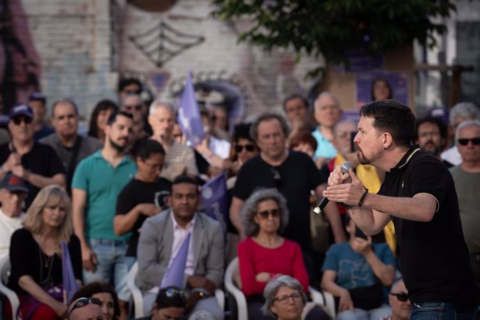
M 364 104 L 371 102 L 371 84 L 377 78 L 383 78 L 390 83 L 392 98 L 408 104 L 408 72 L 358 72 L 357 74 L 357 102 L 360 109 Z

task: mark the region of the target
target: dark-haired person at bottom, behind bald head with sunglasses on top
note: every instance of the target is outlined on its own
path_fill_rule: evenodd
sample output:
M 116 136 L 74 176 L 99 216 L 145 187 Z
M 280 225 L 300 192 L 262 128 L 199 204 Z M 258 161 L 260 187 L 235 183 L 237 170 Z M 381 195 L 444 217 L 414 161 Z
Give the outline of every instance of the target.
M 108 283 L 95 281 L 82 287 L 75 292 L 72 301 L 77 301 L 79 298 L 90 298 L 91 301 L 94 301 L 93 303 L 99 303 L 102 307 L 103 320 L 116 320 L 120 317 L 117 293 Z M 85 301 L 83 300 L 83 302 Z M 72 305 L 70 305 L 70 309 L 72 309 Z

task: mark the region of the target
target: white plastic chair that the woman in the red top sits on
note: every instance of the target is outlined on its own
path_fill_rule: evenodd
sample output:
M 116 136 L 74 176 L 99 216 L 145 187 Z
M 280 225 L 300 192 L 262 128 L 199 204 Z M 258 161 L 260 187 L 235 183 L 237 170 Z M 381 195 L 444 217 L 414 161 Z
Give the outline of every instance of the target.
M 248 320 L 248 309 L 245 295 L 235 283 L 237 279 L 239 279 L 239 275 L 239 257 L 235 257 L 230 262 L 230 264 L 228 264 L 227 269 L 225 270 L 225 290 L 227 290 L 228 293 L 232 294 L 232 296 L 235 298 L 235 301 L 237 302 L 237 319 Z M 328 297 L 327 299 L 323 298 L 323 294 L 325 294 L 326 292 L 317 291 L 310 286 L 308 287 L 308 292 L 310 294 L 310 298 L 312 298 L 312 303 L 314 303 L 314 305 L 326 306 L 328 312 L 331 312 L 330 306 L 328 305 L 330 297 Z M 333 296 L 331 296 L 331 302 L 333 303 Z M 309 309 L 311 309 L 311 307 Z M 333 317 L 335 317 L 335 304 L 333 305 L 333 312 Z

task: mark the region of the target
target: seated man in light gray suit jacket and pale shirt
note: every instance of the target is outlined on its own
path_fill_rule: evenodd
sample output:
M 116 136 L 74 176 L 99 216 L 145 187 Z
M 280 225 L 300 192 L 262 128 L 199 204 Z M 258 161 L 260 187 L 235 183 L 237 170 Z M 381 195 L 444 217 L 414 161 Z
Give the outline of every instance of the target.
M 191 232 L 186 257 L 183 287 L 190 290 L 192 312 L 207 310 L 223 319 L 214 297 L 224 271 L 224 238 L 221 224 L 197 212 L 198 185 L 187 176 L 179 176 L 168 198 L 170 210 L 147 218 L 138 241 L 138 282 L 144 293 L 144 308 L 150 310 L 156 288 L 175 257 L 186 235 Z M 187 305 L 189 307 L 189 305 Z

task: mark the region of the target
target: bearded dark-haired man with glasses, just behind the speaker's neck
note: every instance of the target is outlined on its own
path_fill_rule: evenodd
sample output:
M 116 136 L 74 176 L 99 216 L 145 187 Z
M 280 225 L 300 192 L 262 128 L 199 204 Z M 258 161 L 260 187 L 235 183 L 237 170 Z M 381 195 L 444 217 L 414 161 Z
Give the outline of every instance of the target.
M 426 117 L 417 120 L 417 130 L 415 131 L 414 141 L 420 149 L 430 152 L 438 159 L 442 160 L 440 154 L 447 145 L 447 125 L 440 118 Z M 450 168 L 453 164 L 447 160 L 442 162 Z

